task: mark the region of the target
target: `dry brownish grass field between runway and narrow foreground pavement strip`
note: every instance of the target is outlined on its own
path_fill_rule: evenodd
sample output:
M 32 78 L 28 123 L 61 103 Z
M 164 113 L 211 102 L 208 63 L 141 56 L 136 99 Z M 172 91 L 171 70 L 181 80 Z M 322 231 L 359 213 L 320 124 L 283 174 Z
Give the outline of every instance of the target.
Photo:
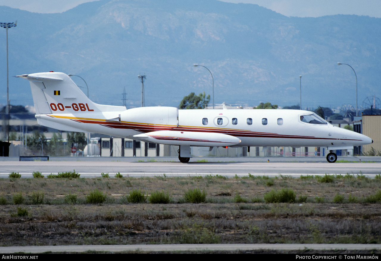
M 380 243 L 381 205 L 364 199 L 379 191 L 381 180 L 280 176 L 3 179 L 0 196 L 0 245 L 130 244 L 130 243 Z M 307 203 L 267 204 L 272 189 L 292 189 Z M 85 204 L 91 191 L 107 194 L 103 204 Z M 206 203 L 184 202 L 189 189 L 207 193 Z M 170 204 L 128 204 L 131 191 L 168 191 Z M 43 203 L 32 205 L 32 193 Z M 13 195 L 25 200 L 14 205 Z M 343 203 L 333 203 L 335 196 Z M 65 196 L 77 195 L 77 203 Z M 246 203 L 235 203 L 239 195 Z M 349 195 L 357 202 L 349 203 Z M 315 197 L 324 197 L 317 203 Z M 261 203 L 252 203 L 261 202 Z M 352 201 L 353 202 L 353 201 Z M 27 215 L 18 216 L 18 207 Z

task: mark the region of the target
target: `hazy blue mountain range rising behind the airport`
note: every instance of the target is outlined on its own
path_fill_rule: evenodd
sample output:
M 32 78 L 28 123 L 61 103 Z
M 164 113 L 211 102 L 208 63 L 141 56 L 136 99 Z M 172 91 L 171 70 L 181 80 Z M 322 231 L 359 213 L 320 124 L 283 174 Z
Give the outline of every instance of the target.
M 190 92 L 215 103 L 355 106 L 381 96 L 381 19 L 335 15 L 288 18 L 252 4 L 216 0 L 101 0 L 64 13 L 0 6 L 8 30 L 11 104 L 32 105 L 29 83 L 11 76 L 36 72 L 79 75 L 97 103 L 177 107 Z M 6 102 L 6 41 L 0 28 L 0 103 Z M 83 81 L 73 76 L 80 86 Z M 86 89 L 82 89 L 85 93 Z

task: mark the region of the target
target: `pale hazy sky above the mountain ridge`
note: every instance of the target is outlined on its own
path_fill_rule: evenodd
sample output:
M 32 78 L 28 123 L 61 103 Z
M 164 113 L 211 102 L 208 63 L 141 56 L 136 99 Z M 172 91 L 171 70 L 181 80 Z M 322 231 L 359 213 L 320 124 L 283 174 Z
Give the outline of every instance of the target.
M 381 0 L 221 0 L 253 3 L 285 16 L 319 17 L 333 14 L 357 14 L 381 18 Z M 91 0 L 0 0 L 0 5 L 35 13 L 61 13 Z

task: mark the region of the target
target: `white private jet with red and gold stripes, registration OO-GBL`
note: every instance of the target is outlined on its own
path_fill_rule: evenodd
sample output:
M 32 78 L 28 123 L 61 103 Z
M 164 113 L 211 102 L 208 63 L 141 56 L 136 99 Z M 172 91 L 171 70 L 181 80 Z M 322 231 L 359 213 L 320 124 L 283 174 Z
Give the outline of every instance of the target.
M 335 127 L 304 110 L 178 110 L 92 102 L 65 73 L 19 75 L 29 80 L 38 124 L 62 131 L 95 132 L 144 142 L 178 145 L 188 162 L 191 146 L 320 146 L 353 149 L 371 138 Z

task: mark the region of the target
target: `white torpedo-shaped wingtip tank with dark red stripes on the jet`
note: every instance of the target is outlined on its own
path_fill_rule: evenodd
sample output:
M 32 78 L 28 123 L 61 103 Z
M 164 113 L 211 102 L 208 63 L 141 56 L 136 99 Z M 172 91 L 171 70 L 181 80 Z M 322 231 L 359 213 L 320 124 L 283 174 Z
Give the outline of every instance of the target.
M 190 131 L 153 131 L 134 137 L 152 143 L 207 147 L 232 146 L 241 142 L 239 138 L 227 134 Z

